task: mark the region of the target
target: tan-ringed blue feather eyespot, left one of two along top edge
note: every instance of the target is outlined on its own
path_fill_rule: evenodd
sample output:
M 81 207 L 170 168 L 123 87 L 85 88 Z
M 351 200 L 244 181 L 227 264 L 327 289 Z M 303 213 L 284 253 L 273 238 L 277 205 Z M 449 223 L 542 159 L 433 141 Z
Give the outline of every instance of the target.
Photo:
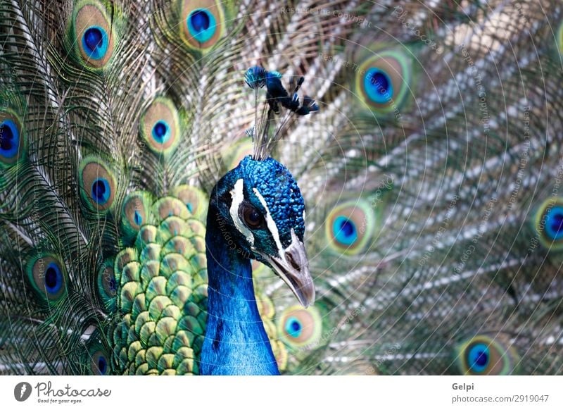
M 113 24 L 106 7 L 97 1 L 79 1 L 75 5 L 68 35 L 77 57 L 86 66 L 103 68 L 113 56 Z

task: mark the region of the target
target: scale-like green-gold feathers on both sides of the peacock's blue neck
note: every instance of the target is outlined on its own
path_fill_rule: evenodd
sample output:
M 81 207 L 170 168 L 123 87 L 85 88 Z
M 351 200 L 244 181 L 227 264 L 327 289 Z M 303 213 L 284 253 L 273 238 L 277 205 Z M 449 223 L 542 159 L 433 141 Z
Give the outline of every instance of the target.
M 115 258 L 115 285 L 109 275 L 106 278 L 118 308 L 116 325 L 110 326 L 113 334 L 108 335 L 114 343 L 115 373 L 199 373 L 208 297 L 202 223 L 206 204 L 205 194 L 187 185 L 156 201 L 148 192 L 138 191 L 125 199 L 123 242 L 132 246 Z M 256 296 L 278 366 L 283 369 L 287 352 L 278 340 L 274 306 L 259 287 Z

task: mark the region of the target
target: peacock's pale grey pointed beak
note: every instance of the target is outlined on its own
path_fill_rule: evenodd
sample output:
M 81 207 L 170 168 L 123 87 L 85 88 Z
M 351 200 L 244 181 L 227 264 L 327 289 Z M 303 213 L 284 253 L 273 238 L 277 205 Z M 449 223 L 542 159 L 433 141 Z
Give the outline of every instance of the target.
M 274 272 L 286 282 L 299 303 L 307 307 L 315 302 L 315 285 L 309 272 L 305 245 L 298 239 L 293 229 L 291 229 L 291 244 L 279 257 L 262 256 L 270 263 Z

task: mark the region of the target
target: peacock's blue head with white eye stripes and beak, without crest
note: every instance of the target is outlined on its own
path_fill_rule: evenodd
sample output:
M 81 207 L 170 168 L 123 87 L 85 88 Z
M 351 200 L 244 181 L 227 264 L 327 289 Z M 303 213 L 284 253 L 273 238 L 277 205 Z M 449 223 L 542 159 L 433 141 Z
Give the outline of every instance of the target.
M 303 306 L 314 302 L 303 244 L 305 204 L 285 166 L 271 157 L 246 156 L 215 185 L 210 211 L 220 230 L 232 237 L 233 251 L 270 266 Z

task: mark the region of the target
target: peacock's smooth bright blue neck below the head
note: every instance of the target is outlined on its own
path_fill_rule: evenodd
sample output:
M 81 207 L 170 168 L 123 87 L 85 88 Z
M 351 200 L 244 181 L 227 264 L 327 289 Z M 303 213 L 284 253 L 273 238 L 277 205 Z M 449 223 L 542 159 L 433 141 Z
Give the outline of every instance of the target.
M 217 218 L 217 210 L 210 207 L 205 234 L 208 323 L 201 374 L 277 375 L 276 359 L 256 306 L 251 261 L 229 242 L 227 227 Z

